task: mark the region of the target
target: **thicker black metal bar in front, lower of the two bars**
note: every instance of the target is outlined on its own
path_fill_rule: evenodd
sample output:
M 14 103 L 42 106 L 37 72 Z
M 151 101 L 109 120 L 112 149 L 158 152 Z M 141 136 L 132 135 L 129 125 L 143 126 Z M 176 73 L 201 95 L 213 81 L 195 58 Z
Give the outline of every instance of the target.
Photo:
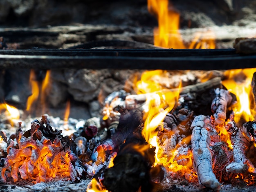
M 85 52 L 88 52 L 88 51 L 89 50 Z M 112 51 L 115 51 L 115 50 L 112 50 Z M 126 52 L 124 50 L 122 51 Z M 135 49 L 133 52 L 136 52 L 136 51 L 137 50 Z M 155 50 L 153 49 L 151 51 L 155 51 Z M 176 51 L 178 52 L 179 50 L 176 50 Z M 184 52 L 186 51 L 184 50 Z M 202 50 L 198 49 L 198 50 L 195 50 L 195 52 L 198 52 L 198 54 L 200 54 Z M 129 52 L 127 52 L 127 54 L 128 53 Z M 177 70 L 186 70 L 186 69 L 213 70 L 213 69 L 216 69 L 217 70 L 217 69 L 239 69 L 239 68 L 252 68 L 252 67 L 256 67 L 255 55 L 239 56 L 237 54 L 234 54 L 234 55 L 227 54 L 227 55 L 211 55 L 211 56 L 146 57 L 146 56 L 119 56 L 119 55 L 116 55 L 116 56 L 46 56 L 46 55 L 0 54 L 0 69 L 88 68 L 88 69 L 166 69 L 166 70 L 176 70 L 176 69 Z

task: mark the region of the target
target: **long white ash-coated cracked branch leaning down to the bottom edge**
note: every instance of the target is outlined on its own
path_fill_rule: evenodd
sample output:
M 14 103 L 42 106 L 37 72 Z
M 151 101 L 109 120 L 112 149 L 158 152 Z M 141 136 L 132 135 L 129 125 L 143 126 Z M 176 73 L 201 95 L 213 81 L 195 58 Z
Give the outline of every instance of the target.
M 216 179 L 212 168 L 212 156 L 209 150 L 210 136 L 206 129 L 207 121 L 203 115 L 196 116 L 191 124 L 191 149 L 193 153 L 193 167 L 198 174 L 200 185 L 220 190 L 220 183 Z

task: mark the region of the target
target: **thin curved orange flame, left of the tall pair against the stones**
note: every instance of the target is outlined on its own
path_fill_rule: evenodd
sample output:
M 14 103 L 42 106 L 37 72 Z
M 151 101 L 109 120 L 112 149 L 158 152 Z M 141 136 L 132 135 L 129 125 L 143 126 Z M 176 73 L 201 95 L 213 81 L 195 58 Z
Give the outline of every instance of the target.
M 29 83 L 31 84 L 31 96 L 27 98 L 27 111 L 30 111 L 32 103 L 37 100 L 39 96 L 39 85 L 36 81 L 36 74 L 34 70 L 30 71 Z

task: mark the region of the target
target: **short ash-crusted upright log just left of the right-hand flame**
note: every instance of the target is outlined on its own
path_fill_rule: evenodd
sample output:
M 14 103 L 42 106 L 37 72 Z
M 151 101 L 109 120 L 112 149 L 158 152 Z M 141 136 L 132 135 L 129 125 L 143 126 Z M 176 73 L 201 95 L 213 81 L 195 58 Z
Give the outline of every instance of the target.
M 211 103 L 211 111 L 217 125 L 225 123 L 227 118 L 227 107 L 232 103 L 232 96 L 229 91 L 217 88 L 215 98 Z

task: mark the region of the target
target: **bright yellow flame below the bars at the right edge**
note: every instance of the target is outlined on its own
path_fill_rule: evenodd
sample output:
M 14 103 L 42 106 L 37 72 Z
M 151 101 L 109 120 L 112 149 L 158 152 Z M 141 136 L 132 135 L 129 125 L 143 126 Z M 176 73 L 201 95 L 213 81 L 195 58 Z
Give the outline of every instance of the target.
M 251 83 L 252 77 L 256 68 L 252 69 L 234 69 L 225 72 L 229 77 L 228 80 L 223 80 L 222 84 L 229 90 L 229 92 L 236 95 L 237 103 L 232 106 L 234 111 L 234 121 L 236 123 L 245 123 L 247 121 L 254 121 L 254 109 L 252 103 Z M 245 77 L 244 79 L 236 79 L 237 77 Z

